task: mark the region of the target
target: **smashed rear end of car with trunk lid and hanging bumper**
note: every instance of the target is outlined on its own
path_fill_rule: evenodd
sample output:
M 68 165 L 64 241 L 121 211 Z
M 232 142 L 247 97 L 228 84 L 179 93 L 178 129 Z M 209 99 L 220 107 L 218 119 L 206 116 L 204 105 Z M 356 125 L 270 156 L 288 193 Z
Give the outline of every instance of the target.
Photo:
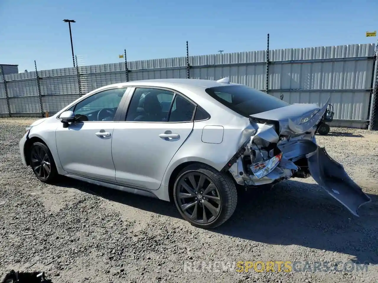
M 358 216 L 358 208 L 370 198 L 352 181 L 342 165 L 316 144 L 315 133 L 328 102 L 329 98 L 322 108 L 316 104 L 293 104 L 251 115 L 251 125 L 256 132 L 224 169 L 231 172 L 239 185 L 245 186 L 274 184 L 291 177 L 311 175 L 328 194 Z M 268 168 L 276 161 L 277 154 L 280 154 L 280 162 Z M 257 177 L 251 167 L 256 173 L 261 164 L 267 168 Z

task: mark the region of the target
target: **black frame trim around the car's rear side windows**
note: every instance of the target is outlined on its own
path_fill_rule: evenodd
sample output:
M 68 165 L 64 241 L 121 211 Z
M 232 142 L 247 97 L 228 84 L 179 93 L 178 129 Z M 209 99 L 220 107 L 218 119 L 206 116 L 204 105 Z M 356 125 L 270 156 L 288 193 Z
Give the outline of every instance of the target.
M 146 121 L 125 121 L 126 119 L 126 115 L 127 115 L 127 112 L 129 111 L 129 107 L 130 107 L 130 102 L 134 96 L 134 93 L 135 93 L 135 90 L 137 88 L 152 88 L 152 89 L 161 89 L 161 90 L 165 90 L 165 91 L 170 91 L 170 92 L 173 92 L 174 93 L 174 96 L 172 98 L 172 102 L 169 106 L 169 111 L 168 111 L 168 117 L 167 117 L 167 120 L 169 120 L 169 116 L 170 116 L 170 111 L 172 110 L 172 106 L 173 106 L 173 103 L 174 103 L 174 100 L 175 100 L 175 97 L 176 97 L 176 94 L 178 95 L 181 95 L 184 99 L 186 99 L 188 102 L 192 103 L 194 105 L 194 111 L 193 111 L 193 115 L 192 115 L 192 119 L 191 121 L 184 121 L 184 122 L 168 122 L 168 121 L 161 121 L 161 122 L 146 122 Z M 143 85 L 133 85 L 133 86 L 130 86 L 130 91 L 129 91 L 129 94 L 128 94 L 128 97 L 127 99 L 125 100 L 125 103 L 123 105 L 123 109 L 122 109 L 122 112 L 121 112 L 121 116 L 120 116 L 120 122 L 125 122 L 125 123 L 192 123 L 192 122 L 198 122 L 198 121 L 205 121 L 205 120 L 208 120 L 210 119 L 210 114 L 204 110 L 201 106 L 199 106 L 204 112 L 206 112 L 208 114 L 208 117 L 207 119 L 204 119 L 204 120 L 195 120 L 194 121 L 194 117 L 195 117 L 195 114 L 197 113 L 197 108 L 198 108 L 198 104 L 195 103 L 193 100 L 191 100 L 189 97 L 187 97 L 186 95 L 182 94 L 181 92 L 179 91 L 176 91 L 174 89 L 170 89 L 170 88 L 164 88 L 164 87 L 161 87 L 161 86 L 143 86 Z M 122 118 L 123 117 L 123 118 Z

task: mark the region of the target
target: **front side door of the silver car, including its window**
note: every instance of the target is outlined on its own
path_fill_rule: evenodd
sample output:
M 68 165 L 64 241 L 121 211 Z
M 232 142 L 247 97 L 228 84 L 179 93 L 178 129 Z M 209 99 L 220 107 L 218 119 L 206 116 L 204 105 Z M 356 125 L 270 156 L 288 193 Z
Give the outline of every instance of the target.
M 125 88 L 107 89 L 70 108 L 76 122 L 56 130 L 56 146 L 62 168 L 68 173 L 115 181 L 112 139 L 115 115 Z M 118 112 L 117 112 L 118 111 Z

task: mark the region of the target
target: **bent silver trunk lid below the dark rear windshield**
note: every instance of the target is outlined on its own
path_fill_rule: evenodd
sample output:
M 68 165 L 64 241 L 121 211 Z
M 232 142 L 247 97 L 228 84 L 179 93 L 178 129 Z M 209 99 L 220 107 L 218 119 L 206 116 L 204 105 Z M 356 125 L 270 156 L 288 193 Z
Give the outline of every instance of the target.
M 330 98 L 322 107 L 310 103 L 294 103 L 281 108 L 250 115 L 257 120 L 276 121 L 279 124 L 279 134 L 303 134 L 322 120 L 327 110 Z

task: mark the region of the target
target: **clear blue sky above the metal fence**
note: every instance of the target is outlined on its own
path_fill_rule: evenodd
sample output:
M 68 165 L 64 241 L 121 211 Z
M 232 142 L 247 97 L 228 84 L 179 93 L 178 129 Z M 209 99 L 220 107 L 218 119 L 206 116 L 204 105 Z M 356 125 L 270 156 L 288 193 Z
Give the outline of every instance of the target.
M 266 49 L 375 43 L 376 0 L 0 0 L 0 63 L 19 70 Z

